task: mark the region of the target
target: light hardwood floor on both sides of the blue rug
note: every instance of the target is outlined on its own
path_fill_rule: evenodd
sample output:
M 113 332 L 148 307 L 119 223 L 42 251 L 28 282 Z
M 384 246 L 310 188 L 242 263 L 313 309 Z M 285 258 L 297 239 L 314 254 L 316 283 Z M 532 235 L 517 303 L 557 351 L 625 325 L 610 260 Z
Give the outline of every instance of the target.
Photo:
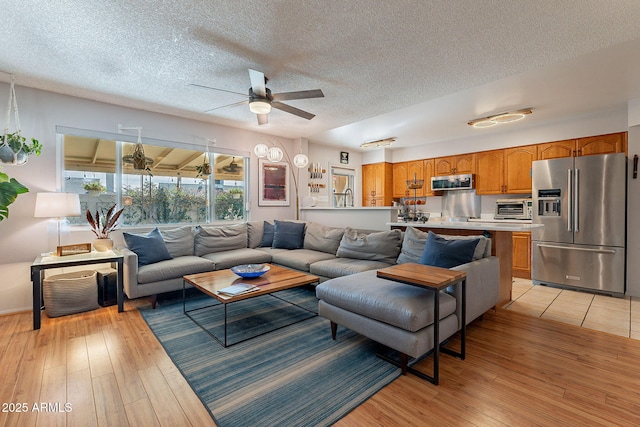
M 0 401 L 28 405 L 0 426 L 213 425 L 136 310 L 147 303 L 43 316 L 39 331 L 31 313 L 0 317 Z M 638 360 L 637 340 L 488 312 L 468 328 L 466 360 L 442 356 L 439 386 L 400 377 L 337 425 L 640 425 Z M 72 410 L 33 411 L 40 402 Z

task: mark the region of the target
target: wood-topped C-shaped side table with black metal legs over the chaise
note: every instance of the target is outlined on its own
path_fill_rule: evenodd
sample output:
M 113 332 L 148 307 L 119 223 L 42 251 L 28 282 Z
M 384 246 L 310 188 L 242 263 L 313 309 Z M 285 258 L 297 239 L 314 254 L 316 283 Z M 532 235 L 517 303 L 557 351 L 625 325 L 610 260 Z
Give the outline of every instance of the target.
M 397 264 L 391 267 L 378 270 L 378 277 L 405 283 L 407 285 L 419 286 L 421 288 L 430 289 L 434 292 L 433 298 L 433 376 L 429 376 L 423 372 L 417 371 L 411 367 L 407 370 L 412 374 L 426 379 L 427 381 L 438 385 L 439 368 L 440 368 L 440 351 L 459 357 L 464 360 L 466 352 L 466 326 L 467 326 L 467 273 L 463 271 L 449 270 L 446 268 L 432 267 L 422 264 L 406 263 Z M 454 351 L 446 347 L 440 347 L 440 291 L 451 285 L 460 284 L 461 286 L 461 323 L 460 329 L 460 351 Z M 407 357 L 404 355 L 404 357 Z M 394 363 L 392 360 L 390 362 Z M 404 361 L 406 362 L 406 361 Z M 406 363 L 402 363 L 407 366 Z

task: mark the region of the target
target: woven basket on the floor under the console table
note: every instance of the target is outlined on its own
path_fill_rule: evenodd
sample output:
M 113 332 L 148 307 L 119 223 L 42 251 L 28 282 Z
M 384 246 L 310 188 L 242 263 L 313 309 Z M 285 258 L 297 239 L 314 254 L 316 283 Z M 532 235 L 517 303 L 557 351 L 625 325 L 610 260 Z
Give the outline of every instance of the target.
M 59 317 L 98 308 L 96 275 L 93 270 L 83 270 L 44 279 L 42 289 L 47 316 Z

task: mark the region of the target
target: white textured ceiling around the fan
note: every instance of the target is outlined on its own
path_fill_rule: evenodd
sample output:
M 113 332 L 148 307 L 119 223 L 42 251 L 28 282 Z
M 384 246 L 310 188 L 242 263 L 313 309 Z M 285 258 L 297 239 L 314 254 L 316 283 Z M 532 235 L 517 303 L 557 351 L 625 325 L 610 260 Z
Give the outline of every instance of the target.
M 0 70 L 16 84 L 290 138 L 399 146 L 477 133 L 466 122 L 533 107 L 529 123 L 640 97 L 637 0 L 0 0 Z M 310 121 L 258 127 L 248 69 Z M 0 74 L 0 80 L 8 81 Z M 522 123 L 522 122 L 520 122 Z M 511 126 L 518 126 L 514 124 Z M 484 132 L 496 132 L 485 130 Z

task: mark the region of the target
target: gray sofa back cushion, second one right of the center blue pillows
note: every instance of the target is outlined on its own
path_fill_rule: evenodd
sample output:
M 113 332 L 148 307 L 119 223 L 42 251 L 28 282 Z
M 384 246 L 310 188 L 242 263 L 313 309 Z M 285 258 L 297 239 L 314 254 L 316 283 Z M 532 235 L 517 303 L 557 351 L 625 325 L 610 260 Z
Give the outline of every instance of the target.
M 341 258 L 366 259 L 395 264 L 400 254 L 400 230 L 360 233 L 353 228 L 344 230 L 336 255 Z

